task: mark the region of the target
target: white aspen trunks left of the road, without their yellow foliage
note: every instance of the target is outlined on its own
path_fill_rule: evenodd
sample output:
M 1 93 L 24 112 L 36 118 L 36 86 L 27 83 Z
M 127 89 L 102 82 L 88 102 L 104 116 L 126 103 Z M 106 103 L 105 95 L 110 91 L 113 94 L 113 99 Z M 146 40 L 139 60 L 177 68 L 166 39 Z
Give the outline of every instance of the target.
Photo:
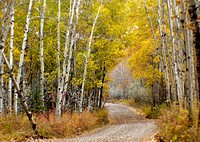
M 3 1 L 4 2 L 4 1 Z M 3 3 L 2 2 L 2 3 Z M 26 72 L 27 62 L 26 62 L 26 52 L 28 48 L 28 38 L 31 29 L 31 22 L 34 21 L 32 18 L 34 0 L 29 1 L 26 24 L 24 28 L 24 36 L 22 41 L 22 47 L 20 51 L 19 65 L 17 68 L 17 74 L 14 70 L 14 50 L 15 50 L 15 0 L 10 2 L 5 1 L 7 4 L 5 6 L 4 16 L 1 19 L 2 26 L 0 31 L 0 115 L 6 114 L 7 112 L 12 115 L 17 115 L 20 112 L 25 112 L 29 121 L 32 125 L 33 130 L 38 135 L 38 130 L 36 127 L 35 120 L 32 115 L 34 112 L 48 113 L 49 109 L 56 109 L 56 115 L 58 118 L 65 111 L 79 111 L 83 112 L 84 109 L 93 110 L 95 107 L 102 106 L 103 97 L 103 86 L 98 86 L 96 83 L 93 84 L 93 88 L 90 90 L 85 89 L 85 82 L 87 79 L 87 68 L 90 62 L 90 53 L 93 40 L 93 34 L 95 32 L 95 26 L 97 19 L 100 14 L 100 10 L 103 4 L 103 0 L 100 2 L 100 6 L 97 10 L 95 19 L 93 20 L 93 26 L 91 28 L 88 45 L 86 49 L 86 55 L 83 54 L 85 60 L 83 62 L 84 69 L 82 72 L 82 81 L 78 85 L 72 83 L 72 80 L 76 78 L 76 46 L 80 40 L 79 32 L 77 31 L 80 9 L 82 10 L 81 0 L 70 0 L 70 8 L 68 13 L 68 25 L 65 36 L 65 46 L 64 50 L 61 50 L 61 0 L 58 0 L 58 15 L 57 15 L 57 84 L 55 92 L 48 94 L 47 79 L 45 76 L 46 64 L 45 61 L 45 20 L 47 15 L 47 2 L 46 0 L 40 1 L 40 8 L 38 11 L 40 13 L 40 27 L 38 34 L 39 41 L 39 55 L 40 55 L 40 67 L 35 75 L 38 78 L 31 77 L 31 85 L 27 86 Z M 42 3 L 43 2 L 43 3 Z M 62 1 L 63 2 L 63 1 Z M 10 34 L 9 34 L 10 31 Z M 4 53 L 5 44 L 8 40 L 8 35 L 10 35 L 10 52 L 9 61 L 7 58 L 7 53 Z M 31 48 L 31 47 L 30 47 Z M 4 64 L 6 66 L 4 66 Z M 102 76 L 99 77 L 102 83 L 105 81 L 106 67 L 101 68 Z M 9 76 L 8 87 L 5 87 L 5 75 Z M 31 73 L 30 73 L 31 74 Z M 39 79 L 39 81 L 38 81 Z M 6 90 L 5 88 L 8 88 Z M 31 88 L 31 90 L 29 90 Z M 35 92 L 34 92 L 35 91 Z M 36 93 L 36 95 L 31 95 Z M 6 96 L 7 95 L 7 96 Z M 30 100 L 30 98 L 33 98 Z M 35 102 L 34 102 L 35 101 Z M 23 110 L 22 110 L 22 109 Z M 35 110 L 38 109 L 38 110 Z

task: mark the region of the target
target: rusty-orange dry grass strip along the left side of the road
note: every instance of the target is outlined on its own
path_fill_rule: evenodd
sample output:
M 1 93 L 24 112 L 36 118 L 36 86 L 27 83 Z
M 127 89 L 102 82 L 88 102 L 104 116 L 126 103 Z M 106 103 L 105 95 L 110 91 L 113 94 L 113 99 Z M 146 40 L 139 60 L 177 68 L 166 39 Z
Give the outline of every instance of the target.
M 108 111 L 105 109 L 93 113 L 84 111 L 82 115 L 65 113 L 59 121 L 54 113 L 35 117 L 39 134 L 44 138 L 73 137 L 108 123 Z M 0 118 L 0 141 L 23 141 L 30 136 L 34 134 L 25 115 Z

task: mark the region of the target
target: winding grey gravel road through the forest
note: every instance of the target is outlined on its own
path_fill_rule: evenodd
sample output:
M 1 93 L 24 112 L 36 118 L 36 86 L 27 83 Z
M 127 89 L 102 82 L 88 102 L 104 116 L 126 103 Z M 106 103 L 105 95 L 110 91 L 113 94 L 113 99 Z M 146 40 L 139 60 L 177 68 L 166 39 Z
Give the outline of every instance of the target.
M 107 103 L 111 125 L 95 130 L 91 134 L 58 142 L 155 142 L 156 124 L 134 113 L 122 104 Z

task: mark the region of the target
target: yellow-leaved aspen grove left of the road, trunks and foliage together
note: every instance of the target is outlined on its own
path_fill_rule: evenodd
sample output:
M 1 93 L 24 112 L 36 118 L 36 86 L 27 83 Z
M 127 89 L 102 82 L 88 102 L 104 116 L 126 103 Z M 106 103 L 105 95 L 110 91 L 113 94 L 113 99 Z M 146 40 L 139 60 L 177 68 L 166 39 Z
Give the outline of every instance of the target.
M 0 114 L 93 110 L 128 46 L 122 1 L 2 0 Z

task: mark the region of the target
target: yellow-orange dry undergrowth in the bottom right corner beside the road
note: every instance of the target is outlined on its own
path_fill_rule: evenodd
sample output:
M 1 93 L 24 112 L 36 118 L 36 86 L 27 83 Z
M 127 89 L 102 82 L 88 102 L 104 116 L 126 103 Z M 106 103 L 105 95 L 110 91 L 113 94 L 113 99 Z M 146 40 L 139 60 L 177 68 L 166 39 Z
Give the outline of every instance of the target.
M 170 109 L 163 109 L 160 116 L 160 133 L 158 137 L 164 141 L 197 142 L 200 134 L 197 134 L 195 126 L 188 127 L 188 125 L 187 110 L 179 110 L 177 106 L 172 106 Z

